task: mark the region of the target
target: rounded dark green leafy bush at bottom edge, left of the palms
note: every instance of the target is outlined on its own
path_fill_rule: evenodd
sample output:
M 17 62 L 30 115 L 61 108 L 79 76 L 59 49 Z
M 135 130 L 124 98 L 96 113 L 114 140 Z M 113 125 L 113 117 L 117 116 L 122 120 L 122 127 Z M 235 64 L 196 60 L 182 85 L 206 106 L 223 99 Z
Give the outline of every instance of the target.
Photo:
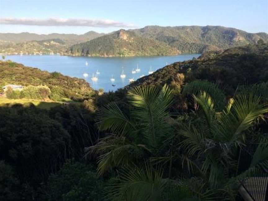
M 101 201 L 104 196 L 103 181 L 96 168 L 71 161 L 49 177 L 48 189 L 50 201 Z

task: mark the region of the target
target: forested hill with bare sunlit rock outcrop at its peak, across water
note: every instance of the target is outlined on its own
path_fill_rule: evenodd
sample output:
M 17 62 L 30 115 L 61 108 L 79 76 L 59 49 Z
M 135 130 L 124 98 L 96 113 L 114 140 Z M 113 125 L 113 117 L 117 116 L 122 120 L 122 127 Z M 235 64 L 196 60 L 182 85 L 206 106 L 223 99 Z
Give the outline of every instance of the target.
M 73 45 L 69 49 L 69 54 L 77 56 L 152 56 L 179 53 L 181 52 L 176 48 L 170 47 L 164 42 L 140 37 L 123 29 Z

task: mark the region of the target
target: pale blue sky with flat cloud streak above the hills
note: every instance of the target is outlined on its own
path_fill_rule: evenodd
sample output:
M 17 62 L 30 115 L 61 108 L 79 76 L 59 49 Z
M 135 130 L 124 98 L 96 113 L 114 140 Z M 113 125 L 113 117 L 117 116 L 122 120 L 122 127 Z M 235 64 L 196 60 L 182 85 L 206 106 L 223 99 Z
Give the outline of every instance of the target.
M 0 0 L 1 33 L 109 33 L 147 25 L 221 25 L 268 33 L 268 0 Z

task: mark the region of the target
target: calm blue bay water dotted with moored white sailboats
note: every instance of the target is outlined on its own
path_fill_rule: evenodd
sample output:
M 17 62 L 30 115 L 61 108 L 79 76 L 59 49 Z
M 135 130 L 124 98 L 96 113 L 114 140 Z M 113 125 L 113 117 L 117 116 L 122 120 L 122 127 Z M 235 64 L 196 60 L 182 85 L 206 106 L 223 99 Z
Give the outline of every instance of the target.
M 152 70 L 156 71 L 163 68 L 165 65 L 174 63 L 176 61 L 190 60 L 193 57 L 198 57 L 199 54 L 183 54 L 177 56 L 137 56 L 137 57 L 73 57 L 73 56 L 56 56 L 56 55 L 10 55 L 6 59 L 21 63 L 25 66 L 47 70 L 48 72 L 60 72 L 61 74 L 71 77 L 84 78 L 92 88 L 103 88 L 105 92 L 115 91 L 118 88 L 129 84 L 129 78 L 138 79 L 142 74 L 148 75 L 150 66 Z M 88 62 L 88 65 L 85 63 Z M 137 64 L 140 72 L 132 74 L 132 69 L 136 69 Z M 126 78 L 120 78 L 124 67 L 124 74 Z M 92 74 L 96 75 L 98 80 L 92 81 Z M 84 73 L 88 77 L 83 76 Z M 115 81 L 112 83 L 110 78 L 114 75 Z M 115 84 L 115 86 L 112 86 Z

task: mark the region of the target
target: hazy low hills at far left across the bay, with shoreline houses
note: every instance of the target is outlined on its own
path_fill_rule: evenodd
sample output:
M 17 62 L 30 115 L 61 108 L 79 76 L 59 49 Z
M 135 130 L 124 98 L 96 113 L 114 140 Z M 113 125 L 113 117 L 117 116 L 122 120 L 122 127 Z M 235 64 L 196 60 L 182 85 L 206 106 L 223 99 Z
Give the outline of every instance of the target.
M 100 37 L 104 33 L 89 31 L 83 35 L 51 33 L 0 33 L 0 53 L 64 54 L 71 45 Z

